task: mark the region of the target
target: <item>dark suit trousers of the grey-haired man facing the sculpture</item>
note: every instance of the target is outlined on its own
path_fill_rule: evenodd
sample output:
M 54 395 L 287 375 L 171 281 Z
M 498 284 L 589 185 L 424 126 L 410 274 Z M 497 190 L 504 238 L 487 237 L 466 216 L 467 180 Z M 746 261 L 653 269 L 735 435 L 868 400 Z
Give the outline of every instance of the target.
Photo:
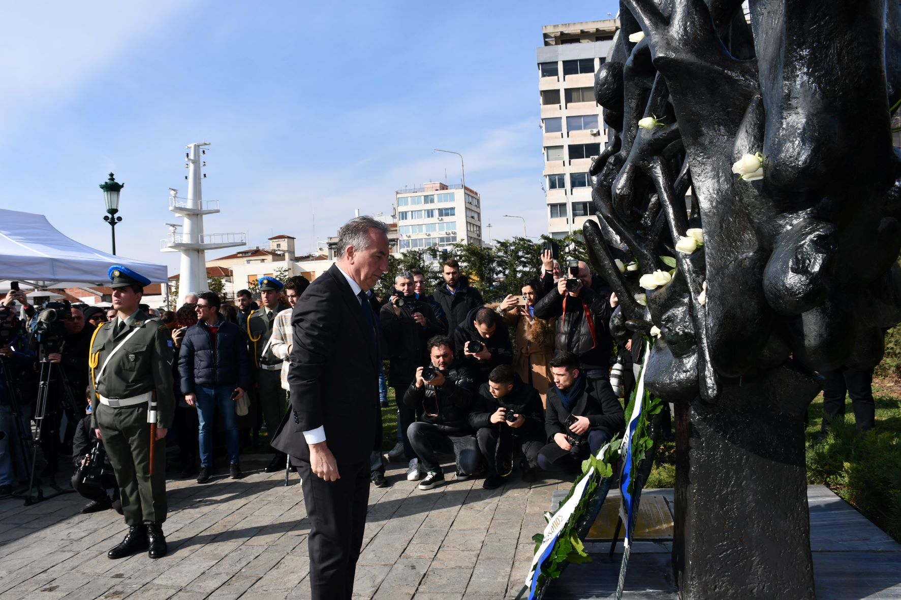
M 341 479 L 325 481 L 310 462 L 294 459 L 310 520 L 310 589 L 315 599 L 343 600 L 353 593 L 369 504 L 369 461 L 338 465 Z

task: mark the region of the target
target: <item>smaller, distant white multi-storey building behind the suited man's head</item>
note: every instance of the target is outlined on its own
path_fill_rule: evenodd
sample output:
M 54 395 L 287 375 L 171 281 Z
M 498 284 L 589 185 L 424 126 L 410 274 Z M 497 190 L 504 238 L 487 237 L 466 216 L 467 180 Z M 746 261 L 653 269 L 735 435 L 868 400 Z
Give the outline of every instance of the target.
M 401 252 L 429 247 L 441 250 L 457 242 L 482 245 L 482 201 L 469 187 L 423 184 L 397 190 L 395 202 Z

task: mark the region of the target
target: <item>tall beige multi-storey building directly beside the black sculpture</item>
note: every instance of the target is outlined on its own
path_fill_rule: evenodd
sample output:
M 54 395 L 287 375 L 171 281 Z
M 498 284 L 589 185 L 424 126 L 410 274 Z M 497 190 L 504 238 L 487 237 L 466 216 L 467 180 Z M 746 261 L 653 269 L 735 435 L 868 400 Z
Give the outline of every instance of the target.
M 538 89 L 551 237 L 564 237 L 580 230 L 586 219 L 597 219 L 588 168 L 608 138 L 594 97 L 595 72 L 617 29 L 618 19 L 542 27 Z

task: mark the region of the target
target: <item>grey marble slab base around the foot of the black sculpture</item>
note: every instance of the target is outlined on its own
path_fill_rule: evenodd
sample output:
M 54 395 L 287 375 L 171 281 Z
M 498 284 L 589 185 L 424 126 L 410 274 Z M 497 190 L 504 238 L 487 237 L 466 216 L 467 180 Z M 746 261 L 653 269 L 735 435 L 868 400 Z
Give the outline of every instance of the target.
M 551 506 L 558 506 L 566 490 L 555 492 Z M 646 489 L 642 500 L 661 497 L 673 506 L 672 489 Z M 619 506 L 612 490 L 605 502 Z M 811 549 L 817 600 L 901 598 L 901 544 L 870 523 L 842 498 L 824 486 L 808 486 Z M 604 515 L 605 511 L 601 511 Z M 545 600 L 613 600 L 616 579 L 623 560 L 623 543 L 616 544 L 608 558 L 609 541 L 586 542 L 592 562 L 569 565 L 559 580 L 551 583 Z M 670 542 L 633 545 L 625 576 L 623 598 L 627 600 L 678 600 L 673 579 Z M 753 596 L 742 596 L 736 598 Z M 776 596 L 785 597 L 785 596 Z

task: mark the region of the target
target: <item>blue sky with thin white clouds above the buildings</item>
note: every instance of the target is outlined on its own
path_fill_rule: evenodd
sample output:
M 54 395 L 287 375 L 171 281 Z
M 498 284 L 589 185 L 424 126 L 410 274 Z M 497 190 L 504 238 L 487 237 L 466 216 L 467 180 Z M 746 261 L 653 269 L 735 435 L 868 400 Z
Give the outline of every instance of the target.
M 359 208 L 389 212 L 426 181 L 482 195 L 492 237 L 546 231 L 535 48 L 542 25 L 616 3 L 169 2 L 9 4 L 0 39 L 0 206 L 47 214 L 104 250 L 97 187 L 125 183 L 120 255 L 168 264 L 168 187 L 185 145 L 212 142 L 205 231 L 297 250 Z M 487 230 L 486 230 L 487 235 Z M 208 257 L 225 254 L 211 253 Z

